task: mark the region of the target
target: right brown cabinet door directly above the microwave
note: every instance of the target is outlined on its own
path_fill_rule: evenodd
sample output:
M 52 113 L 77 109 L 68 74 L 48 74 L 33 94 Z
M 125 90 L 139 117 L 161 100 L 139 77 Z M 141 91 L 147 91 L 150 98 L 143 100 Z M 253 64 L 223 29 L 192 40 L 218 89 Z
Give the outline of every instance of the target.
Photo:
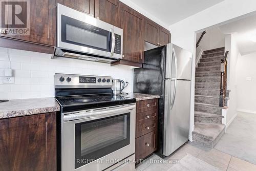
M 95 0 L 95 17 L 121 27 L 121 4 L 118 0 Z

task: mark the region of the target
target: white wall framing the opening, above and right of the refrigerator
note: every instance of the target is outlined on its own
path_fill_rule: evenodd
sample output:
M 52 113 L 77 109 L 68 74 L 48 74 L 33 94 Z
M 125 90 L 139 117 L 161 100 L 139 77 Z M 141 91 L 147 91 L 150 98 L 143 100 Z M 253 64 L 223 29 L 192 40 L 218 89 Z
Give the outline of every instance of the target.
M 194 101 L 195 101 L 195 59 L 196 59 L 196 33 L 208 27 L 226 22 L 229 19 L 245 15 L 256 10 L 254 0 L 225 0 L 215 6 L 207 8 L 180 22 L 169 26 L 172 33 L 172 42 L 193 53 L 193 70 L 191 81 L 190 100 L 190 135 L 194 128 Z

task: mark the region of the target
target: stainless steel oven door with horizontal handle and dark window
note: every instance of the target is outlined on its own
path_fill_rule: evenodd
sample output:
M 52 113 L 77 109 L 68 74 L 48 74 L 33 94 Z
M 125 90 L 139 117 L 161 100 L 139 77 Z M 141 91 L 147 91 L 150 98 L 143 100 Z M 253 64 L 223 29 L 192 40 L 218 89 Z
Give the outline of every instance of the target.
M 103 170 L 135 153 L 135 104 L 62 114 L 62 170 Z

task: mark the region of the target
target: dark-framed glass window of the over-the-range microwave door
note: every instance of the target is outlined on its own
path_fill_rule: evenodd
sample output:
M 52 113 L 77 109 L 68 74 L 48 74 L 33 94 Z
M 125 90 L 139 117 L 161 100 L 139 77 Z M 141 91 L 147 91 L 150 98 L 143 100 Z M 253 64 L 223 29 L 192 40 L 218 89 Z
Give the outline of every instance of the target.
M 61 41 L 87 48 L 111 51 L 111 32 L 61 15 Z

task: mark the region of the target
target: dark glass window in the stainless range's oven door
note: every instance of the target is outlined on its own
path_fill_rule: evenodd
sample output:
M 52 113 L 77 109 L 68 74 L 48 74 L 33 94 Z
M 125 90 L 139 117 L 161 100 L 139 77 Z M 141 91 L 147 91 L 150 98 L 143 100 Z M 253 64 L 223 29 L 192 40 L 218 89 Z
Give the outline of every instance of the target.
M 75 124 L 75 169 L 130 144 L 130 113 Z

